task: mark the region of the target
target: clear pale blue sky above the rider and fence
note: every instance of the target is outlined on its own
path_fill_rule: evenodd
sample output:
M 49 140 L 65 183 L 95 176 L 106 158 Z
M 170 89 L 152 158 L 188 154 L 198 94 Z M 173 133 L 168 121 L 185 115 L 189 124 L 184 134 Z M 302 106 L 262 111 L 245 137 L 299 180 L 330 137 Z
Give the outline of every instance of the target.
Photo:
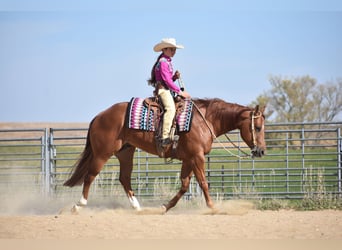
M 0 0 L 0 122 L 89 122 L 151 96 L 168 37 L 192 97 L 248 105 L 270 76 L 335 81 L 341 27 L 339 1 Z

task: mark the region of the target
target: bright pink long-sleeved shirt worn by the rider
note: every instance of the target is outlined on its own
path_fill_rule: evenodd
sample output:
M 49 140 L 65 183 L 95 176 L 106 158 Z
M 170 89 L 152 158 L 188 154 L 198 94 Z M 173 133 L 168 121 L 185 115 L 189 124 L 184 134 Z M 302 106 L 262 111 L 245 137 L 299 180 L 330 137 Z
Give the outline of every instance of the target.
M 165 82 L 166 86 L 177 94 L 180 92 L 180 88 L 172 80 L 173 67 L 170 57 L 163 55 L 159 59 L 159 63 L 157 64 L 154 73 L 156 75 L 156 81 Z

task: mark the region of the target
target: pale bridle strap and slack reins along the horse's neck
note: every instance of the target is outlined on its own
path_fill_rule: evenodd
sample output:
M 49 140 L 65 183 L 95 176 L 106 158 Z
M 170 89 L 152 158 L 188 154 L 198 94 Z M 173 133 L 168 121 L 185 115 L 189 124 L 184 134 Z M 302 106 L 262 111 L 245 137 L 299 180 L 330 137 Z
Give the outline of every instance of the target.
M 241 156 L 241 155 L 237 155 L 237 154 L 234 154 L 233 152 L 231 152 L 218 138 L 217 136 L 215 135 L 214 131 L 211 129 L 211 127 L 209 126 L 209 123 L 207 121 L 207 119 L 205 119 L 203 113 L 201 112 L 201 110 L 199 109 L 199 107 L 196 105 L 196 103 L 191 100 L 192 104 L 194 105 L 194 107 L 197 109 L 198 113 L 201 115 L 203 121 L 205 122 L 205 124 L 207 125 L 210 133 L 211 133 L 211 136 L 213 137 L 213 139 L 219 143 L 221 145 L 221 147 L 226 150 L 230 155 L 232 156 L 235 156 L 239 159 L 246 159 L 246 158 L 249 158 L 251 155 L 250 154 L 247 154 L 246 152 L 244 152 L 242 149 L 240 149 L 239 146 L 237 146 L 229 137 L 227 134 L 224 134 L 226 136 L 226 138 L 228 139 L 228 141 L 235 147 L 237 148 L 241 153 L 244 154 L 244 156 Z M 255 118 L 258 118 L 259 116 L 254 116 L 254 111 L 252 112 L 252 137 L 253 137 L 253 144 L 254 146 L 256 145 L 255 143 L 255 130 L 254 130 L 254 119 Z

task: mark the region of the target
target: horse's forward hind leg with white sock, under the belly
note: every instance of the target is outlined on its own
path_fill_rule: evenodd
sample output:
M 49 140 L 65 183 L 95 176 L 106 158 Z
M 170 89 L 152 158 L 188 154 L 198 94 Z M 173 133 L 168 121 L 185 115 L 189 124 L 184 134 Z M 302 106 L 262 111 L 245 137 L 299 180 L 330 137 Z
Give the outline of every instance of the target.
M 133 155 L 135 152 L 135 147 L 130 144 L 125 144 L 120 151 L 116 154 L 116 157 L 118 158 L 120 162 L 120 183 L 123 186 L 128 200 L 131 204 L 131 206 L 137 210 L 140 211 L 140 203 L 138 199 L 135 197 L 134 192 L 132 190 L 131 186 L 131 175 L 133 170 Z

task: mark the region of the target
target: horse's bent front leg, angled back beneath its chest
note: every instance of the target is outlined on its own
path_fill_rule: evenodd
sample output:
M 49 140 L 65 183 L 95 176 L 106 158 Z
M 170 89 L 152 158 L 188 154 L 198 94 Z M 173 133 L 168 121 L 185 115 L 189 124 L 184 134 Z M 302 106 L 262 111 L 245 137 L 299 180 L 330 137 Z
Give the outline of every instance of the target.
M 180 190 L 178 191 L 178 193 L 167 204 L 163 205 L 163 207 L 165 207 L 165 212 L 167 212 L 170 208 L 176 206 L 179 199 L 182 198 L 182 196 L 188 191 L 191 176 L 192 176 L 191 165 L 186 164 L 183 161 L 181 176 L 180 176 L 182 186 Z

